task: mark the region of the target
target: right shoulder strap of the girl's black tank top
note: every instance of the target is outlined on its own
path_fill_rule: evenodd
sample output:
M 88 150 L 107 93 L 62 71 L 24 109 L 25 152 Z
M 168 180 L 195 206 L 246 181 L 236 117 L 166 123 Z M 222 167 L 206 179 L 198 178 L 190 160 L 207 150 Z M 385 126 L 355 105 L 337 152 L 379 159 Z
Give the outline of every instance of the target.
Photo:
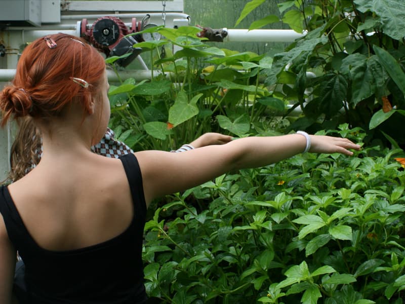
M 143 193 L 143 182 L 141 168 L 133 153 L 119 157 L 123 163 L 125 173 L 131 189 L 132 201 L 134 204 L 135 216 L 144 219 L 146 216 L 146 202 Z

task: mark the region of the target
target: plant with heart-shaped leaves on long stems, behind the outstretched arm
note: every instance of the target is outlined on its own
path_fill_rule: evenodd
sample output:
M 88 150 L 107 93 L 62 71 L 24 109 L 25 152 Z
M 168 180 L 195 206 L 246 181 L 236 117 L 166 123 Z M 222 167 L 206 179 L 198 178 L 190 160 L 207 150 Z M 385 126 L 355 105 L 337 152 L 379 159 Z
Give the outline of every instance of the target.
M 132 147 L 167 150 L 204 132 L 246 136 L 271 134 L 270 125 L 277 129 L 272 117 L 285 111 L 285 103 L 259 81 L 271 58 L 210 47 L 196 36 L 198 27 L 150 30 L 165 36 L 137 44 L 150 52 L 151 81 L 127 79 L 109 92 L 110 126 L 127 130 Z M 161 58 L 161 48 L 171 45 L 181 49 Z

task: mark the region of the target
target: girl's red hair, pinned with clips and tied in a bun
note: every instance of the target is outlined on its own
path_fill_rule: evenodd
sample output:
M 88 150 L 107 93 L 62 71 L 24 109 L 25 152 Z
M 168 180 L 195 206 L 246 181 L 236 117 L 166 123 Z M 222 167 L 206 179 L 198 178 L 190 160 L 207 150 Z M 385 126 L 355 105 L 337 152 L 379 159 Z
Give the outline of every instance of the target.
M 56 43 L 54 48 L 52 41 Z M 11 116 L 57 117 L 75 100 L 87 108 L 90 97 L 99 90 L 104 69 L 103 57 L 78 37 L 58 33 L 35 40 L 23 51 L 12 84 L 0 93 L 0 125 L 4 126 Z M 72 78 L 85 80 L 89 87 Z

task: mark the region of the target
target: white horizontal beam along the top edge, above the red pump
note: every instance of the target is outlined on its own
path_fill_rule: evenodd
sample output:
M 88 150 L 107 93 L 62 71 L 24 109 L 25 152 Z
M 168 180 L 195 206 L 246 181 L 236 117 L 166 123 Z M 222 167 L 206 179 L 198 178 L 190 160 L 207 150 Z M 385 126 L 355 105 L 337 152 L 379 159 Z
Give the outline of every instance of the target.
M 183 0 L 166 2 L 166 12 L 183 12 Z M 62 0 L 62 11 L 69 12 L 161 12 L 161 1 L 66 1 Z

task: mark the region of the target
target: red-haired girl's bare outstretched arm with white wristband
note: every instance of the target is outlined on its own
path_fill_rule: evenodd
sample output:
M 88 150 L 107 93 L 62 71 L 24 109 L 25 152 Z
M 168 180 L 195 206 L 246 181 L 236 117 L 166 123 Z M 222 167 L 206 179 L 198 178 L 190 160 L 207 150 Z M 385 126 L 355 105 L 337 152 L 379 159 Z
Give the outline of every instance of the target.
M 312 153 L 342 153 L 360 148 L 348 139 L 310 135 Z M 184 153 L 142 151 L 136 153 L 142 171 L 147 204 L 154 198 L 204 183 L 235 169 L 266 166 L 302 153 L 303 135 L 247 137 L 224 145 L 210 145 Z

